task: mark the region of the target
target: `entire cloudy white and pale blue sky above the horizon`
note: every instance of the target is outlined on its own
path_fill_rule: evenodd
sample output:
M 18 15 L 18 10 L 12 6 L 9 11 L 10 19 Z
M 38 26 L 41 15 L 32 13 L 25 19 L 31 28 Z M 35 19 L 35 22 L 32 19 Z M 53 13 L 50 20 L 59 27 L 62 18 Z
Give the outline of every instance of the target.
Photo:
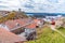
M 0 0 L 0 10 L 28 13 L 65 13 L 65 0 Z

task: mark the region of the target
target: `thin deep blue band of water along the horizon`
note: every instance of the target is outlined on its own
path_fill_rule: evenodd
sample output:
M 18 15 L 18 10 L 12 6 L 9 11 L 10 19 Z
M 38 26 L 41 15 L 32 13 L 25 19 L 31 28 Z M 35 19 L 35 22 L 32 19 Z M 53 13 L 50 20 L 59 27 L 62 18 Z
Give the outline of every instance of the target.
M 26 13 L 27 15 L 42 15 L 42 16 L 57 16 L 63 15 L 65 16 L 65 13 Z

